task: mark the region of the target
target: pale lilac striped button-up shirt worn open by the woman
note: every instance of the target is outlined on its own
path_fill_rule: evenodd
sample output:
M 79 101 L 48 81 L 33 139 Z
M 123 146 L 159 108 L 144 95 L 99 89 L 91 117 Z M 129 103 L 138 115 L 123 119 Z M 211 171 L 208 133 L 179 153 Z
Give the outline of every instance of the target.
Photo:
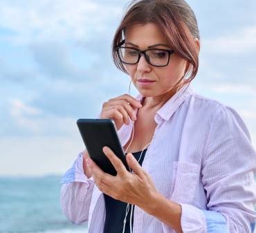
M 138 95 L 137 99 L 142 100 Z M 183 233 L 251 233 L 256 213 L 256 153 L 248 129 L 232 108 L 181 90 L 159 109 L 143 161 L 156 189 L 181 205 Z M 122 146 L 134 122 L 118 131 Z M 62 178 L 62 212 L 102 233 L 104 196 L 83 171 L 80 153 Z M 134 233 L 174 233 L 169 225 L 134 208 Z M 117 232 L 118 233 L 118 232 Z

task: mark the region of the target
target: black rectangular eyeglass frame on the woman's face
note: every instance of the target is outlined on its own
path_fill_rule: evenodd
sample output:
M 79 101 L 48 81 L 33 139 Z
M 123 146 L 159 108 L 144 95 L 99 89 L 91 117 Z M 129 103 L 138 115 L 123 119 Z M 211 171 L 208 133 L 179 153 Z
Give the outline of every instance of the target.
M 172 49 L 163 49 L 163 48 L 149 48 L 149 49 L 146 49 L 146 50 L 139 50 L 138 48 L 134 48 L 134 47 L 129 47 L 129 46 L 122 46 L 122 44 L 125 44 L 125 40 L 123 40 L 122 42 L 120 42 L 120 44 L 118 44 L 118 46 L 116 46 L 116 53 L 118 54 L 118 58 L 120 59 L 120 61 L 124 64 L 128 64 L 128 65 L 134 65 L 134 64 L 137 64 L 139 61 L 140 61 L 140 57 L 141 55 L 143 54 L 147 63 L 152 65 L 152 66 L 156 66 L 156 67 L 164 67 L 164 66 L 168 66 L 169 62 L 170 62 L 170 55 L 172 55 L 172 53 L 174 53 L 174 50 Z M 122 58 L 120 57 L 120 54 L 118 53 L 118 49 L 119 48 L 130 48 L 130 49 L 133 49 L 133 50 L 136 50 L 138 51 L 138 60 L 136 62 L 133 62 L 133 63 L 128 63 L 128 62 L 124 62 L 122 61 Z M 160 50 L 160 51 L 165 51 L 168 53 L 168 61 L 167 61 L 167 64 L 166 65 L 161 65 L 161 66 L 158 66 L 158 65 L 154 65 L 150 62 L 149 60 L 149 57 L 146 55 L 146 52 L 149 51 L 149 50 Z

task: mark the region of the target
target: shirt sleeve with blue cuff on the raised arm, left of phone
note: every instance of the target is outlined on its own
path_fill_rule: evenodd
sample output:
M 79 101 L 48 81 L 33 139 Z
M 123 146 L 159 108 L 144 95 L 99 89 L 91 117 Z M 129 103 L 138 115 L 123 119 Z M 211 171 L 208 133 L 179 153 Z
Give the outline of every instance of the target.
M 60 205 L 64 216 L 74 224 L 86 222 L 89 218 L 94 181 L 84 174 L 82 152 L 71 169 L 66 171 L 61 183 Z

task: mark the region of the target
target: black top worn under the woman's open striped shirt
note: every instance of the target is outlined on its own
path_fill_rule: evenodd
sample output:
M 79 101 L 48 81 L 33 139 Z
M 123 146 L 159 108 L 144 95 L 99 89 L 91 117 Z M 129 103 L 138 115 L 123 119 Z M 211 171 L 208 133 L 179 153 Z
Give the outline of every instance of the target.
M 142 151 L 138 151 L 132 153 L 136 160 L 140 158 L 139 164 L 140 166 L 143 164 L 143 160 L 145 157 L 147 149 L 143 151 L 143 154 L 140 158 L 140 153 Z M 106 218 L 104 223 L 104 233 L 122 233 L 122 227 L 125 219 L 125 212 L 127 203 L 122 201 L 118 201 L 107 194 L 104 194 L 105 207 L 106 207 Z M 130 233 L 130 215 L 131 215 L 131 205 L 129 207 L 129 212 L 126 217 L 126 225 L 125 225 L 125 233 Z M 132 213 L 132 224 L 134 223 L 134 212 Z

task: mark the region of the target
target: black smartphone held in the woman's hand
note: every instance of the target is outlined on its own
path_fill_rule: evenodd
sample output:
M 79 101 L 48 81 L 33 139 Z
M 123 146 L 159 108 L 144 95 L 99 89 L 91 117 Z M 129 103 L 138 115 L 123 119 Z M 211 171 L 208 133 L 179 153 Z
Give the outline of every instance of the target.
M 113 153 L 122 160 L 129 171 L 125 159 L 125 151 L 122 149 L 116 126 L 111 119 L 78 119 L 77 127 L 81 133 L 84 145 L 90 158 L 102 169 L 113 176 L 116 176 L 116 169 L 113 167 L 107 156 L 103 153 L 104 146 L 109 147 Z

